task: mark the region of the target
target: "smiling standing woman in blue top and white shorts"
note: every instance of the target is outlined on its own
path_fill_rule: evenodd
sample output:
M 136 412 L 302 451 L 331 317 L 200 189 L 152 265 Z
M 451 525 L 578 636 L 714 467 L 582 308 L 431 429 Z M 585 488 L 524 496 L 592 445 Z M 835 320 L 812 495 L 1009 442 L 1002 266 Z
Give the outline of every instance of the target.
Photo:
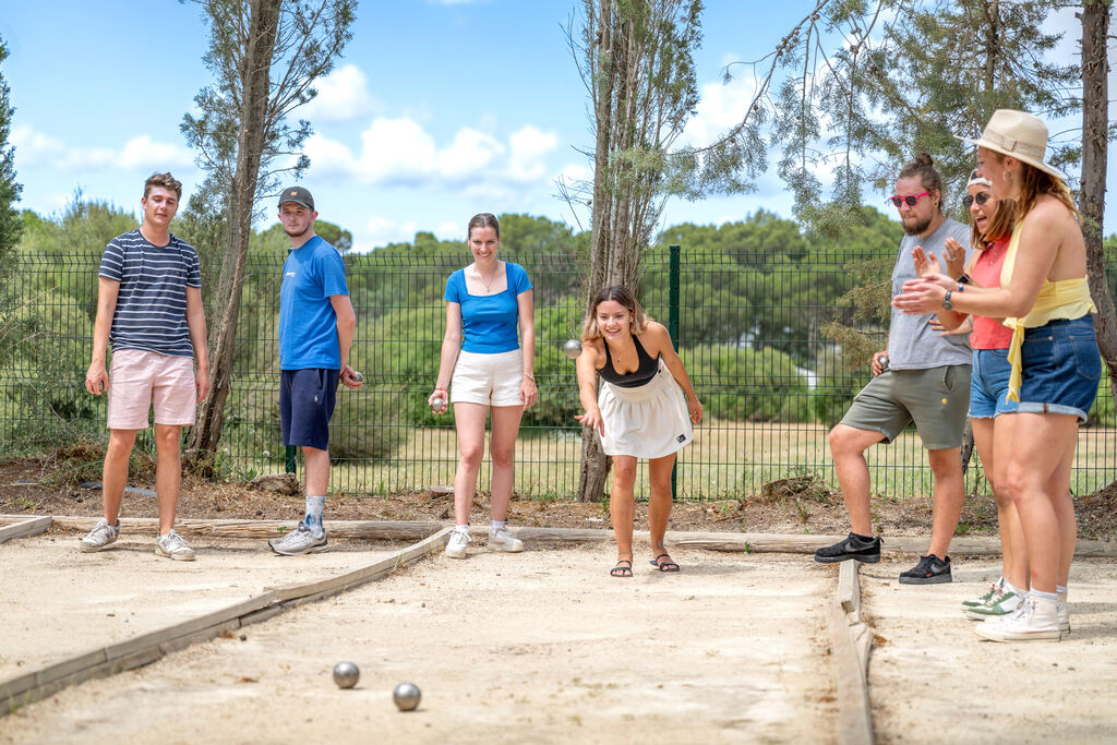
M 435 392 L 427 400 L 436 413 L 442 413 L 449 385 L 459 451 L 454 476 L 456 527 L 446 546 L 447 556 L 454 558 L 465 558 L 469 544 L 469 507 L 485 452 L 485 419 L 489 409 L 493 410 L 489 434 L 493 525 L 488 548 L 524 550 L 524 542 L 513 537 L 505 526 L 505 517 L 512 499 L 519 419 L 524 409 L 538 398 L 532 283 L 522 266 L 497 258 L 500 225 L 494 216 L 474 216 L 467 236 L 474 262 L 451 274 L 446 283 L 442 359 Z

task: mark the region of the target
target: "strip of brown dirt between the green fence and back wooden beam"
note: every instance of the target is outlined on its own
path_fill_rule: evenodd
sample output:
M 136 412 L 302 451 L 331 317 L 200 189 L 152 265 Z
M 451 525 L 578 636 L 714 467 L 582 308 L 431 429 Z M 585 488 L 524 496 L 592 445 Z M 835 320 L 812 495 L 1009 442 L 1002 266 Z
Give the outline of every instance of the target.
M 80 453 L 78 453 L 80 455 Z M 88 453 L 85 453 L 88 456 Z M 93 464 L 93 465 L 90 465 Z M 153 472 L 134 465 L 130 485 L 154 490 Z M 75 453 L 56 453 L 44 459 L 0 462 L 0 513 L 32 515 L 99 515 L 101 491 L 83 488 L 82 481 L 101 478 L 99 464 Z M 1117 541 L 1117 485 L 1077 499 L 1079 536 Z M 151 494 L 125 491 L 125 517 L 159 514 Z M 189 518 L 293 519 L 303 514 L 303 498 L 250 489 L 245 484 L 212 481 L 187 476 L 179 500 L 179 516 Z M 330 519 L 450 520 L 454 497 L 417 491 L 389 496 L 331 497 Z M 929 498 L 897 499 L 878 495 L 872 502 L 877 531 L 884 535 L 930 534 Z M 488 519 L 488 498 L 474 499 L 471 522 Z M 516 495 L 509 508 L 513 525 L 534 527 L 610 526 L 608 504 L 535 499 Z M 647 503 L 637 504 L 637 526 L 647 526 Z M 760 494 L 741 499 L 680 502 L 671 512 L 675 531 L 729 533 L 844 534 L 849 520 L 841 495 L 817 478 L 786 478 L 763 487 Z M 996 505 L 989 495 L 971 496 L 958 524 L 958 535 L 996 535 Z

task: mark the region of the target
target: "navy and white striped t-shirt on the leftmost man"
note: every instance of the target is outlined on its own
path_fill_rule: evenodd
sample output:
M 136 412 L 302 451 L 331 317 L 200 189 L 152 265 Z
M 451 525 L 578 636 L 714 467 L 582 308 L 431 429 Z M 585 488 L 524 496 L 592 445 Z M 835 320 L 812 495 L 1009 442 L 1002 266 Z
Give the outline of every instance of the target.
M 201 287 L 198 251 L 173 235 L 155 246 L 130 230 L 108 241 L 99 275 L 121 283 L 108 341 L 113 350 L 145 350 L 192 357 L 187 287 Z

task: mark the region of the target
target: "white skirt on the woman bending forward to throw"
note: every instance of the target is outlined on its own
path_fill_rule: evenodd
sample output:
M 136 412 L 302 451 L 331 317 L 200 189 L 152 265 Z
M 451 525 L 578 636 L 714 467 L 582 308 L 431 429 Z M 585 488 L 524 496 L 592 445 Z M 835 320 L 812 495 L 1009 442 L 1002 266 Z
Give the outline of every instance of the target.
M 598 408 L 605 426 L 601 447 L 607 456 L 662 458 L 694 439 L 686 397 L 662 360 L 655 378 L 639 388 L 601 381 Z

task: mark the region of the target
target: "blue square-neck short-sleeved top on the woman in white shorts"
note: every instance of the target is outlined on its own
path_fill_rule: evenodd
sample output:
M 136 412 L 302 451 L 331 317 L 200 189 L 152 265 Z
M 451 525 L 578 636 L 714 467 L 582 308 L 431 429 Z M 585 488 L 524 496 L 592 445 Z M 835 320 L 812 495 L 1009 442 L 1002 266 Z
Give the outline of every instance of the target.
M 524 267 L 504 262 L 508 286 L 495 295 L 470 295 L 466 290 L 466 270 L 458 269 L 446 280 L 446 300 L 461 306 L 461 350 L 497 354 L 519 348 L 516 326 L 519 321 L 521 293 L 532 288 Z

